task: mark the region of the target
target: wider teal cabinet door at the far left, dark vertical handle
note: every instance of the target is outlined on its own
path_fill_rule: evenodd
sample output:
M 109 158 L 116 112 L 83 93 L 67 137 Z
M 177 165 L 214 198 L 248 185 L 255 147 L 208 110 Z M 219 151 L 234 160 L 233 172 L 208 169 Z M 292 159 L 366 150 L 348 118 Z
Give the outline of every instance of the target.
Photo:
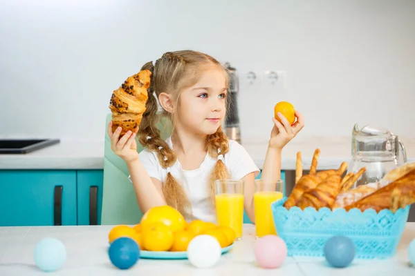
M 0 226 L 76 225 L 75 170 L 0 170 Z

